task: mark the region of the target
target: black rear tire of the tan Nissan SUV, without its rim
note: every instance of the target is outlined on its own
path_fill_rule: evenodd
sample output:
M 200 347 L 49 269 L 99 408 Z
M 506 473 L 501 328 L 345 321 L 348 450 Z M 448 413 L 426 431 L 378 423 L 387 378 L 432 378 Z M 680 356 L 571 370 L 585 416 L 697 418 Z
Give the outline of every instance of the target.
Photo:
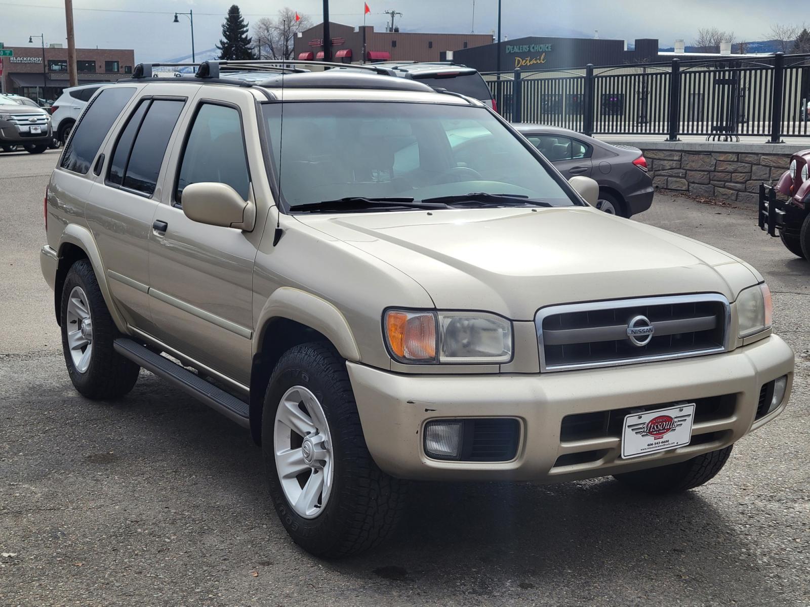
M 87 305 L 92 319 L 92 351 L 89 366 L 83 372 L 77 369 L 68 344 L 68 333 L 77 329 L 75 322 L 71 324 L 67 318 L 68 300 L 75 287 L 83 291 L 87 299 L 84 304 Z M 113 399 L 129 393 L 138 381 L 140 367 L 113 348 L 118 330 L 104 302 L 104 296 L 101 295 L 90 261 L 76 261 L 67 271 L 59 314 L 62 324 L 62 352 L 65 355 L 67 373 L 76 390 L 92 399 Z

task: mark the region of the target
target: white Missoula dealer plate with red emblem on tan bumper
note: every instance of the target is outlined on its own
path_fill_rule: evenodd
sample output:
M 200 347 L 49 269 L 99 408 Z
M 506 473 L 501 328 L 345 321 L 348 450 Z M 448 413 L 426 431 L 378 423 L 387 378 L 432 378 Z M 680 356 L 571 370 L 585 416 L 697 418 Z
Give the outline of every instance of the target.
M 638 457 L 689 444 L 694 416 L 693 402 L 625 416 L 621 456 Z

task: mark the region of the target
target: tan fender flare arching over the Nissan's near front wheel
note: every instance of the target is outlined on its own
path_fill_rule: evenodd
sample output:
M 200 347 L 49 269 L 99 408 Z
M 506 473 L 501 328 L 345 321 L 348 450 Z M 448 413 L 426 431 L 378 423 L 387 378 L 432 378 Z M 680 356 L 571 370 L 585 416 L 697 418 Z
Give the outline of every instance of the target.
M 292 287 L 276 289 L 264 304 L 256 323 L 254 356 L 261 348 L 266 326 L 274 318 L 294 320 L 315 329 L 332 342 L 344 359 L 360 362 L 360 348 L 343 313 L 326 299 Z

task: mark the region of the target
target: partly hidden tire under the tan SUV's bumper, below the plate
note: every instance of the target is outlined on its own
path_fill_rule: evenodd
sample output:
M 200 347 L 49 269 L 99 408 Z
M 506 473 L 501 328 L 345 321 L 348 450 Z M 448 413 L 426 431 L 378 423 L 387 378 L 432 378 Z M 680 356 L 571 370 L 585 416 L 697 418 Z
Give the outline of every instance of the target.
M 717 451 L 703 453 L 677 464 L 614 474 L 613 478 L 645 493 L 680 493 L 701 486 L 717 476 L 731 455 L 731 447 L 729 445 Z

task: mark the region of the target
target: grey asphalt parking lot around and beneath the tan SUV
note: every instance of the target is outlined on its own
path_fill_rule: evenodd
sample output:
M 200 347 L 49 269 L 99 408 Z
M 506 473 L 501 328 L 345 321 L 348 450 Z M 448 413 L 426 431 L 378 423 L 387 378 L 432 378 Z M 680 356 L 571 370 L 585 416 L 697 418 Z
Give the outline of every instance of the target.
M 637 218 L 756 265 L 797 354 L 786 413 L 718 478 L 419 484 L 396 537 L 323 562 L 245 431 L 147 373 L 114 404 L 72 389 L 38 261 L 57 158 L 0 155 L 0 605 L 810 605 L 810 264 L 751 210 L 661 196 Z

